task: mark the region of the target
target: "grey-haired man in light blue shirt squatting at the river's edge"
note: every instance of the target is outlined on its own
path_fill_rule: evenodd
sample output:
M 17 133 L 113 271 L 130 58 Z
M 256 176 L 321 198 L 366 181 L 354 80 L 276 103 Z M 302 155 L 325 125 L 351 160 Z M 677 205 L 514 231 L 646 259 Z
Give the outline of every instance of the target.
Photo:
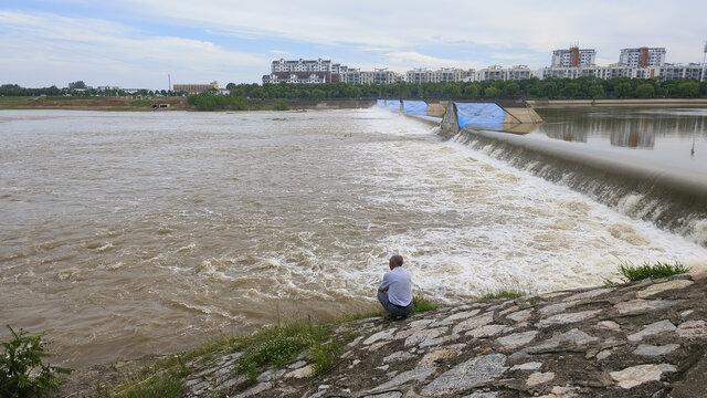
M 383 305 L 386 315 L 392 320 L 403 320 L 412 311 L 412 283 L 410 272 L 402 269 L 402 255 L 390 258 L 390 271 L 383 275 L 378 287 L 378 301 Z

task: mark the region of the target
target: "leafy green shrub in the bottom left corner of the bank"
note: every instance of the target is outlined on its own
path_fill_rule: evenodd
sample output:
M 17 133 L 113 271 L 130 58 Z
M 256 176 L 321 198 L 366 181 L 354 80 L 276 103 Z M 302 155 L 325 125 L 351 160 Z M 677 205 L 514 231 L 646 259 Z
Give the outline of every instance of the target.
M 44 365 L 42 335 L 30 336 L 23 329 L 17 333 L 8 325 L 12 339 L 2 343 L 4 355 L 0 356 L 0 397 L 24 398 L 41 397 L 59 390 L 60 374 L 70 374 L 72 369 Z

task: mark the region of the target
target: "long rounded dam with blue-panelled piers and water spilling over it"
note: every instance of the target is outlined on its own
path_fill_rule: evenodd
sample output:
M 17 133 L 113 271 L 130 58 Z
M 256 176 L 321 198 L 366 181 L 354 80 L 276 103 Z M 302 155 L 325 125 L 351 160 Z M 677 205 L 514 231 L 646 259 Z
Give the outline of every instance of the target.
M 378 105 L 439 125 L 439 135 L 444 139 L 567 186 L 631 218 L 707 247 L 707 172 L 690 168 L 689 163 L 688 167 L 665 167 L 661 161 L 635 156 L 636 147 L 641 146 L 654 150 L 652 156 L 658 160 L 663 156 L 653 148 L 656 134 L 645 134 L 645 127 L 643 135 L 636 134 L 633 125 L 625 137 L 621 132 L 612 132 L 612 146 L 629 147 L 629 151 L 619 153 L 612 150 L 615 148 L 578 145 L 577 142 L 587 144 L 587 136 L 576 137 L 571 128 L 560 132 L 561 126 L 548 126 L 542 136 L 529 134 L 538 130 L 544 121 L 521 101 L 450 101 L 432 105 L 424 101 L 389 100 L 379 101 Z M 692 128 L 685 123 L 683 119 L 683 129 Z M 656 128 L 674 129 L 677 125 Z M 704 118 L 695 122 L 694 129 L 705 130 Z M 695 155 L 694 135 L 690 156 Z

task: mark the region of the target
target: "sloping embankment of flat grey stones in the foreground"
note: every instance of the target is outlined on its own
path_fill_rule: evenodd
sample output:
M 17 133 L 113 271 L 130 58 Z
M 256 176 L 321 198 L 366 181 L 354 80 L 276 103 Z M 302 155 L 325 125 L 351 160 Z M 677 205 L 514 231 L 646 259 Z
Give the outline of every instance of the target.
M 306 357 L 250 389 L 241 354 L 189 364 L 186 397 L 707 397 L 707 273 L 361 320 L 337 365 Z

